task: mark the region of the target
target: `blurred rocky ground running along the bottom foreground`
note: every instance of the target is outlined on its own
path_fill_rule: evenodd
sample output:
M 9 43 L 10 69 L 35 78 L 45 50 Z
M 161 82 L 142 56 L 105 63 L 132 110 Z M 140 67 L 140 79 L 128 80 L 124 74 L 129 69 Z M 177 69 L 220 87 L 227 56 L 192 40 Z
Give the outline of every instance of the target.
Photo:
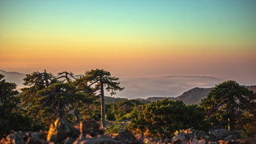
M 79 130 L 80 129 L 80 130 Z M 256 143 L 252 138 L 242 140 L 237 131 L 228 131 L 223 128 L 214 128 L 203 132 L 194 129 L 183 130 L 172 139 L 159 140 L 144 135 L 133 135 L 131 131 L 123 131 L 118 135 L 104 135 L 104 130 L 100 129 L 100 124 L 96 121 L 83 121 L 79 129 L 63 119 L 56 119 L 50 126 L 48 134 L 40 132 L 15 132 L 7 136 L 2 143 L 34 143 L 34 144 L 83 144 L 83 143 Z

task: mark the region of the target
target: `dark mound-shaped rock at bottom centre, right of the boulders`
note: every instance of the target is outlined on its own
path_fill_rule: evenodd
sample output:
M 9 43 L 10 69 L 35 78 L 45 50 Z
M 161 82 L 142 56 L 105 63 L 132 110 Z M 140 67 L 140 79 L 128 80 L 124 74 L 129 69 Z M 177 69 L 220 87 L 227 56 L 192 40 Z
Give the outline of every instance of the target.
M 142 141 L 139 141 L 136 139 L 136 137 L 132 134 L 131 131 L 123 131 L 121 133 L 119 133 L 116 137 L 115 140 L 119 140 L 123 143 L 127 143 L 127 144 L 139 144 L 139 143 L 143 143 Z

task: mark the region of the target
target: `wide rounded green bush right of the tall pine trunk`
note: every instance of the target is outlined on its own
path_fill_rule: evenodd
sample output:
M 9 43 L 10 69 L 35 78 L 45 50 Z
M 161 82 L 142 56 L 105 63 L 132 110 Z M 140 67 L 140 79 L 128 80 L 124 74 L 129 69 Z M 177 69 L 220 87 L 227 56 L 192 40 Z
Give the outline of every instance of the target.
M 176 130 L 207 128 L 205 111 L 196 105 L 185 106 L 180 100 L 154 101 L 142 106 L 138 117 L 133 118 L 126 129 L 136 133 L 140 129 L 154 137 L 172 137 Z

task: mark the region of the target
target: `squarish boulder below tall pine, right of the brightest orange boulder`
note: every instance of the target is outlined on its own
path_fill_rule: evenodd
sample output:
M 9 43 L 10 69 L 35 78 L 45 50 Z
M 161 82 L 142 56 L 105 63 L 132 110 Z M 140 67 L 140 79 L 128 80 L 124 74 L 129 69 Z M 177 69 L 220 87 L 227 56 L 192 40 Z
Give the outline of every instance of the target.
M 82 121 L 80 122 L 80 133 L 83 136 L 89 134 L 90 136 L 103 135 L 104 130 L 100 129 L 100 124 L 96 121 Z

